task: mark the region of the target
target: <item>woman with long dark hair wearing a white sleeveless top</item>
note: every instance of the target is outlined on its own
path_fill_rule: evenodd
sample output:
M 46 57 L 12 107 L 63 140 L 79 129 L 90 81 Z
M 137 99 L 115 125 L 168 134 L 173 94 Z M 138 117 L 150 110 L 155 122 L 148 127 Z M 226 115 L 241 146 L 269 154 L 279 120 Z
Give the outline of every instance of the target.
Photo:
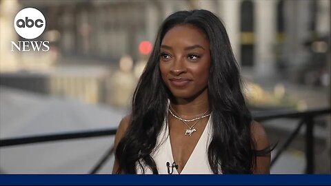
M 268 174 L 270 150 L 241 92 L 221 21 L 170 15 L 115 137 L 117 174 Z

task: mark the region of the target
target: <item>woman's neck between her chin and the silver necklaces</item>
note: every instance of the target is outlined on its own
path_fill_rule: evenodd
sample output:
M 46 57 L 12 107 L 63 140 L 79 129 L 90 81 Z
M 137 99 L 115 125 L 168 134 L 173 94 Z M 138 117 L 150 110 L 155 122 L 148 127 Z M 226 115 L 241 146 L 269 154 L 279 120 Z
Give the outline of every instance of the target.
M 173 98 L 170 99 L 172 110 L 183 118 L 200 116 L 209 110 L 208 91 L 204 91 L 194 99 Z M 207 113 L 210 113 L 208 111 Z

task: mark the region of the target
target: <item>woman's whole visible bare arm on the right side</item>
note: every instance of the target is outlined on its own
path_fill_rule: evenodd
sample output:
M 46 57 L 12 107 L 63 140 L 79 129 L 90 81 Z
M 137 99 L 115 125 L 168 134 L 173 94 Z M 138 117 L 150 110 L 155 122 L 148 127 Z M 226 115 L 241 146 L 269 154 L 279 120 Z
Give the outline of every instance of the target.
M 260 123 L 253 121 L 250 130 L 252 132 L 252 139 L 257 150 L 269 147 L 268 136 Z M 270 174 L 270 153 L 257 156 L 257 161 L 253 169 L 253 173 Z

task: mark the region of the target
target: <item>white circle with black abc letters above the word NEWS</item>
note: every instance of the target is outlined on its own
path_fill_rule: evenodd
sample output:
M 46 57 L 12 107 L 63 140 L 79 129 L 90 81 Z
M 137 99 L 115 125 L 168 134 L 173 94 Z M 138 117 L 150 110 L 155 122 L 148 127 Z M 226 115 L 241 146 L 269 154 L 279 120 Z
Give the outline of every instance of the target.
M 39 37 L 46 28 L 43 13 L 35 8 L 24 8 L 16 14 L 14 28 L 21 37 L 34 39 Z

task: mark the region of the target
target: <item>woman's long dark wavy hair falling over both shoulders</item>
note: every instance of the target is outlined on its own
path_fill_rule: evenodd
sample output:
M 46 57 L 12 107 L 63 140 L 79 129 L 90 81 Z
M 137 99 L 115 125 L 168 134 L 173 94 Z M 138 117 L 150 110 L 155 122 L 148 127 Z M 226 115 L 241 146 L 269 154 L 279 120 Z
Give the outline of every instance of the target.
M 179 11 L 163 21 L 134 91 L 130 125 L 117 145 L 117 173 L 136 174 L 136 166 L 145 172 L 148 166 L 153 174 L 158 174 L 151 153 L 167 116 L 171 95 L 161 79 L 160 47 L 165 33 L 176 25 L 194 25 L 205 32 L 210 42 L 208 96 L 212 141 L 208 147 L 208 160 L 212 172 L 251 174 L 259 154 L 251 137 L 252 116 L 242 94 L 239 67 L 228 34 L 220 19 L 208 10 Z

